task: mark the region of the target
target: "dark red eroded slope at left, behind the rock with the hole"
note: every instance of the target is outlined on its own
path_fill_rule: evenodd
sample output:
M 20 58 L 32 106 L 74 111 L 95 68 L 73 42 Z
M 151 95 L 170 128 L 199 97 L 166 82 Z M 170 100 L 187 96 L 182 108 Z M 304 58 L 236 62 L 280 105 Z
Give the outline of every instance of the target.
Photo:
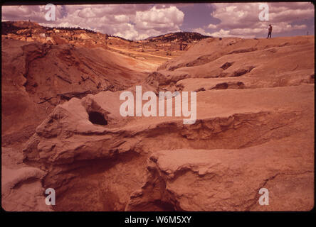
M 64 101 L 126 89 L 147 76 L 147 66 L 139 60 L 101 48 L 18 40 L 3 40 L 2 44 L 4 144 L 25 141 L 30 129 L 33 127 L 34 132 L 53 108 Z

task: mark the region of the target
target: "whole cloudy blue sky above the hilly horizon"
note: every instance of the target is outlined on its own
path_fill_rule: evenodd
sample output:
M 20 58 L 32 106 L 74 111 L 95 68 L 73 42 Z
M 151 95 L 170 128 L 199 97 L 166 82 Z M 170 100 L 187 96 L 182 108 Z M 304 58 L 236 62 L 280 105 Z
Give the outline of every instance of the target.
M 56 21 L 46 21 L 45 5 L 2 6 L 2 21 L 28 21 L 41 26 L 80 27 L 140 40 L 177 31 L 214 37 L 263 38 L 315 35 L 310 2 L 268 4 L 268 21 L 260 21 L 260 3 L 56 5 Z

